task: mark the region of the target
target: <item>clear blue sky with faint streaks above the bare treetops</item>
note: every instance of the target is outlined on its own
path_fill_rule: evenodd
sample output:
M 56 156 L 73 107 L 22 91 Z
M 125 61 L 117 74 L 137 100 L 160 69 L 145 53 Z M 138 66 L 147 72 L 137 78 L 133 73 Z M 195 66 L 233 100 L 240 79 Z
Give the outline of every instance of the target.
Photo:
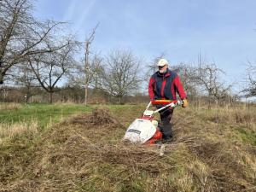
M 172 65 L 201 52 L 238 84 L 256 61 L 255 9 L 254 0 L 38 0 L 35 15 L 70 21 L 80 40 L 99 22 L 93 49 L 102 54 L 129 48 L 150 61 L 165 52 Z

